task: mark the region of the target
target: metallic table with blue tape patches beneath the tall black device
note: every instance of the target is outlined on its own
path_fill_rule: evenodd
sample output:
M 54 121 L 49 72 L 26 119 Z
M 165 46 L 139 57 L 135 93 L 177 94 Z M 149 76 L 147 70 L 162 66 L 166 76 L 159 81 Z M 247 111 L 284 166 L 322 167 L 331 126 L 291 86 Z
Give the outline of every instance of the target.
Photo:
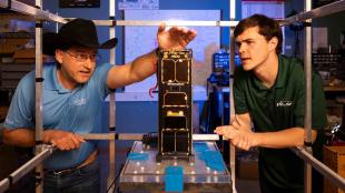
M 224 170 L 209 167 L 198 148 L 207 148 L 208 151 L 218 152 L 215 142 L 194 142 L 194 162 L 184 159 L 162 160 L 156 162 L 157 145 L 142 145 L 136 141 L 129 153 L 145 155 L 144 160 L 127 158 L 120 173 L 119 187 L 121 192 L 162 192 L 165 191 L 165 170 L 167 166 L 183 167 L 184 192 L 231 192 L 230 172 L 225 165 L 221 156 L 218 163 L 224 164 Z M 220 154 L 220 153 L 219 153 Z

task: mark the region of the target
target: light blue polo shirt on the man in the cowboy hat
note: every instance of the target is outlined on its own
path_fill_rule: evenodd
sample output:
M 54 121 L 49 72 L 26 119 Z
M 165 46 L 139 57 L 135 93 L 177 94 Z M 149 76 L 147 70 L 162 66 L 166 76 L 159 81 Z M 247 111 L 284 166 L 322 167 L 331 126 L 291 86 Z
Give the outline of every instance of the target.
M 107 73 L 109 63 L 96 68 L 90 80 L 73 90 L 61 87 L 57 79 L 57 65 L 43 67 L 43 129 L 57 129 L 73 133 L 99 133 L 100 111 L 109 93 Z M 4 128 L 34 130 L 34 71 L 26 74 L 13 95 Z M 45 169 L 63 170 L 82 163 L 96 149 L 96 142 L 87 141 L 77 150 L 56 151 L 45 161 Z

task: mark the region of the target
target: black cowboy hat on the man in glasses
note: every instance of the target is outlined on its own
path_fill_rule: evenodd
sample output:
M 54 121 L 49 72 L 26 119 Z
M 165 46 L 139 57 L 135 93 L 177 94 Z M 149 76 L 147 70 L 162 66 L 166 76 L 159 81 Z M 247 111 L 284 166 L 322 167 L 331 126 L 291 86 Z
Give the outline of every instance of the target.
M 78 18 L 63 24 L 58 33 L 43 33 L 45 54 L 55 55 L 55 50 L 66 44 L 95 49 L 111 49 L 117 44 L 117 39 L 112 38 L 99 44 L 95 23 L 91 20 Z

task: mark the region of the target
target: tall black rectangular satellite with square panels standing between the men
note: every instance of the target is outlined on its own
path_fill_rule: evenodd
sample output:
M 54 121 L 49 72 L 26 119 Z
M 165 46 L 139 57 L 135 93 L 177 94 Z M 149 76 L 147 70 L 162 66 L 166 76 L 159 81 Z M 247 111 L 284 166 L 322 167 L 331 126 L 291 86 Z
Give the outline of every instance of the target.
M 191 50 L 159 52 L 158 162 L 162 159 L 194 161 L 191 58 Z

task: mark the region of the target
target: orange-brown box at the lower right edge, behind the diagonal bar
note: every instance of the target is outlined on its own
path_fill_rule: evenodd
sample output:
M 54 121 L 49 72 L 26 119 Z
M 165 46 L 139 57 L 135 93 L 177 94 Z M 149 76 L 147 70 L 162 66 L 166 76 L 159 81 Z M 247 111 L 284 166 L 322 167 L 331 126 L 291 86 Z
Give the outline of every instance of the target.
M 345 177 L 345 146 L 325 146 L 324 163 L 342 177 Z M 324 180 L 325 193 L 344 193 L 332 182 Z

